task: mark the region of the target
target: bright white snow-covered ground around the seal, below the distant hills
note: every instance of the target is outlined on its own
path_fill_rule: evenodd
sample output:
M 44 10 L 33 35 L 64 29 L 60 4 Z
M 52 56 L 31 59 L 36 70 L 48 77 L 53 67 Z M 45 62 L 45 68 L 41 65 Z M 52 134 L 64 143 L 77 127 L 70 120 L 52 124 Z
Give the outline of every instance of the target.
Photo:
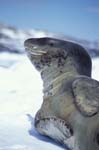
M 93 59 L 99 80 L 99 58 Z M 42 80 L 27 56 L 0 54 L 0 150 L 62 150 L 33 127 L 42 103 Z

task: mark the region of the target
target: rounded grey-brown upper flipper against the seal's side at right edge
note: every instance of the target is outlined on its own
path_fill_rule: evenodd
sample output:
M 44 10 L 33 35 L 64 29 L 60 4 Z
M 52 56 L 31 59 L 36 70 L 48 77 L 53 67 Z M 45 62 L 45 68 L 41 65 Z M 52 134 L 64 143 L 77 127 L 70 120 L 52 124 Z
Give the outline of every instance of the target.
M 74 103 L 85 116 L 99 112 L 99 82 L 89 77 L 80 77 L 73 84 Z

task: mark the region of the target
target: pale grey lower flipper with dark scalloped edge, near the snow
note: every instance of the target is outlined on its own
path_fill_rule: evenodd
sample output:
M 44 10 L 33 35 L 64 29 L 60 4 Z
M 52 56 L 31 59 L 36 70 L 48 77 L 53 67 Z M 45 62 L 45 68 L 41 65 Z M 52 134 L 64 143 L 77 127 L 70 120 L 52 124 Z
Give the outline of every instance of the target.
M 35 127 L 40 134 L 73 149 L 73 130 L 64 120 L 57 117 L 46 117 L 35 122 Z

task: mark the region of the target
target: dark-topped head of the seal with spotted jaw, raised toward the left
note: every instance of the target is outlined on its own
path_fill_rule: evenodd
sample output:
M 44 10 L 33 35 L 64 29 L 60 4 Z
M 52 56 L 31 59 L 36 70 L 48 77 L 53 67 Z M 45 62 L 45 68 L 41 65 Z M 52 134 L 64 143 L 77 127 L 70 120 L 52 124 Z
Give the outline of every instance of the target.
M 80 74 L 91 76 L 91 58 L 86 50 L 73 42 L 63 41 L 54 38 L 31 38 L 24 43 L 27 54 L 37 70 L 42 69 L 57 61 L 64 64 L 67 57 L 75 61 L 75 67 Z

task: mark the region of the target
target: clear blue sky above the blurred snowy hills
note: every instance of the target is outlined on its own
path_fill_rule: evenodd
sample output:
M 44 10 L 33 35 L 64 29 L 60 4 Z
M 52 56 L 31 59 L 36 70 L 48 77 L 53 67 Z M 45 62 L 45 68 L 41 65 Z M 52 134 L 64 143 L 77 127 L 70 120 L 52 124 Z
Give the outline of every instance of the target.
M 99 39 L 99 0 L 0 0 L 0 22 Z

